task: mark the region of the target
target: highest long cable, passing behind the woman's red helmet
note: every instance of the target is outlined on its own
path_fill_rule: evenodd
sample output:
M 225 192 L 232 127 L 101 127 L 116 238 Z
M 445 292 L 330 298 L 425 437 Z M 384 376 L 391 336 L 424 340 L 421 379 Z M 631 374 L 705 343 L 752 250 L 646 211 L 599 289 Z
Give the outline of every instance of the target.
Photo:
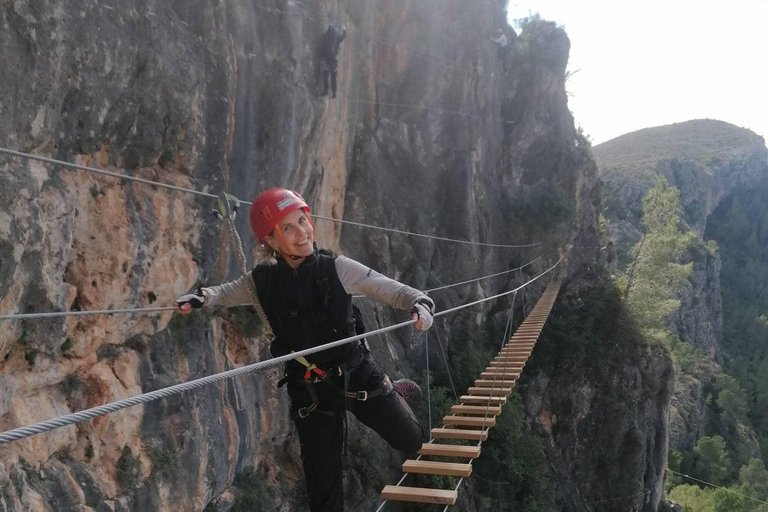
M 198 196 L 201 196 L 201 197 L 209 197 L 209 198 L 213 198 L 213 199 L 219 199 L 219 196 L 217 196 L 215 194 L 209 194 L 207 192 L 201 192 L 199 190 L 194 190 L 194 189 L 191 189 L 191 188 L 178 187 L 176 185 L 168 185 L 166 183 L 160 183 L 158 181 L 147 180 L 147 179 L 144 179 L 144 178 L 137 178 L 135 176 L 128 176 L 126 174 L 120 174 L 120 173 L 117 173 L 117 172 L 105 171 L 103 169 L 97 169 L 95 167 L 88 167 L 88 166 L 85 166 L 85 165 L 73 164 L 73 163 L 70 163 L 70 162 L 64 162 L 62 160 L 56 160 L 56 159 L 53 159 L 53 158 L 48 158 L 48 157 L 44 157 L 44 156 L 40 156 L 40 155 L 33 155 L 31 153 L 23 153 L 21 151 L 14 151 L 12 149 L 0 148 L 0 153 L 4 153 L 6 155 L 17 157 L 17 158 L 28 158 L 28 159 L 31 159 L 31 160 L 37 160 L 39 162 L 45 162 L 45 163 L 52 164 L 52 165 L 59 165 L 59 166 L 62 166 L 62 167 L 68 167 L 68 168 L 71 168 L 71 169 L 77 169 L 77 170 L 80 170 L 80 171 L 93 172 L 93 173 L 96 173 L 96 174 L 110 176 L 112 178 L 124 179 L 124 180 L 129 180 L 129 181 L 136 181 L 136 182 L 139 182 L 139 183 L 144 183 L 146 185 L 154 185 L 154 186 L 157 186 L 157 187 L 163 187 L 163 188 L 167 188 L 167 189 L 171 189 L 171 190 L 176 190 L 178 192 L 185 192 L 185 193 L 188 193 L 188 194 L 198 195 Z M 235 198 L 235 196 L 231 196 L 231 197 Z M 242 199 L 238 199 L 238 201 L 241 204 L 247 204 L 247 205 L 253 204 L 252 201 L 244 201 Z M 385 228 L 385 227 L 376 226 L 376 225 L 373 225 L 373 224 L 364 224 L 362 222 L 354 222 L 354 221 L 344 220 L 344 219 L 335 219 L 333 217 L 325 217 L 325 216 L 322 216 L 322 215 L 313 215 L 312 218 L 313 219 L 322 219 L 322 220 L 326 220 L 326 221 L 330 221 L 330 222 L 336 222 L 336 223 L 339 223 L 339 224 L 347 224 L 347 225 L 351 225 L 351 226 L 359 226 L 359 227 L 365 227 L 365 228 L 370 228 L 370 229 L 377 229 L 379 231 L 386 231 L 386 232 L 389 232 L 389 233 L 399 233 L 399 234 L 402 234 L 402 235 L 416 236 L 416 237 L 421 237 L 421 238 L 428 238 L 428 239 L 431 239 L 431 240 L 441 240 L 441 241 L 445 241 L 445 242 L 454 242 L 454 243 L 462 243 L 462 244 L 468 244 L 468 245 L 477 245 L 477 246 L 482 246 L 482 247 L 499 247 L 499 248 L 519 249 L 519 248 L 524 248 L 524 247 L 535 247 L 535 246 L 541 245 L 541 242 L 537 242 L 537 243 L 533 243 L 533 244 L 522 244 L 522 245 L 489 244 L 489 243 L 483 243 L 483 242 L 472 242 L 470 240 L 458 240 L 458 239 L 455 239 L 455 238 L 446 238 L 446 237 L 440 237 L 440 236 L 425 235 L 425 234 L 422 234 L 422 233 L 413 233 L 411 231 L 404 231 L 402 229 Z

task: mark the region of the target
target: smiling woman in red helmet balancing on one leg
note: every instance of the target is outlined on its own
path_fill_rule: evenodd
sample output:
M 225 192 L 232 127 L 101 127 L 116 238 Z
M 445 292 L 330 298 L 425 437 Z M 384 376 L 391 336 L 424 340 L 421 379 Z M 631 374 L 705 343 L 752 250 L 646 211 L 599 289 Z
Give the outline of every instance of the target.
M 318 252 L 304 199 L 286 189 L 261 194 L 251 206 L 251 228 L 261 256 L 271 258 L 240 279 L 177 299 L 178 311 L 259 302 L 276 336 L 274 356 L 355 336 L 352 294 L 397 309 L 410 309 L 416 329 L 432 325 L 434 303 L 422 292 L 345 258 Z M 276 260 L 276 261 L 273 261 Z M 280 386 L 288 384 L 292 416 L 301 442 L 304 477 L 312 512 L 341 512 L 342 448 L 346 410 L 375 430 L 393 448 L 415 453 L 423 428 L 406 400 L 421 396 L 413 381 L 392 382 L 367 346 L 352 342 L 289 361 Z

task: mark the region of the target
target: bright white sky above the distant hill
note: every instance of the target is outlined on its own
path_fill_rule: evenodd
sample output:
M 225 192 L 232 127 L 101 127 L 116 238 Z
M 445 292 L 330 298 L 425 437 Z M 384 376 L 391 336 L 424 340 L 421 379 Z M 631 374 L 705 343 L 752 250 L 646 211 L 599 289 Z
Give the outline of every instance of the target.
M 768 138 L 768 0 L 510 0 L 571 40 L 568 104 L 599 144 L 690 119 Z M 516 27 L 517 29 L 517 27 Z

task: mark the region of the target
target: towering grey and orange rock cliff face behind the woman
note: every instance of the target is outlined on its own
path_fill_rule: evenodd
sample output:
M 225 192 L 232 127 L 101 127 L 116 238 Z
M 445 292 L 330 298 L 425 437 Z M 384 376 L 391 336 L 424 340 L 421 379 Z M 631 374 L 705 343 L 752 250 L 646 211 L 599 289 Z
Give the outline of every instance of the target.
M 348 36 L 339 97 L 325 100 L 316 48 L 332 18 Z M 542 242 L 525 250 L 478 248 L 317 218 L 319 245 L 415 287 L 543 254 L 533 274 L 572 245 L 560 269 L 567 276 L 596 259 L 602 196 L 567 108 L 569 42 L 554 24 L 532 25 L 504 75 L 487 38 L 503 19 L 503 3 L 492 0 L 7 2 L 0 9 L 0 143 L 243 199 L 287 186 L 309 198 L 318 216 L 485 242 Z M 0 159 L 0 199 L 3 313 L 168 305 L 197 284 L 236 275 L 208 199 L 8 158 Z M 252 247 L 241 217 L 238 227 Z M 512 284 L 497 278 L 437 301 L 445 308 Z M 403 318 L 363 306 L 369 329 Z M 482 308 L 465 316 L 470 334 L 485 330 L 486 317 L 503 322 L 503 313 Z M 264 359 L 252 318 L 236 308 L 186 318 L 6 322 L 0 427 Z M 457 334 L 467 331 L 442 327 L 450 343 L 467 342 Z M 567 338 L 560 333 L 561 343 Z M 374 352 L 391 375 L 414 375 L 421 346 L 420 337 L 398 332 L 378 338 Z M 654 376 L 648 379 L 664 374 L 664 357 L 643 357 L 650 369 L 641 373 Z M 534 382 L 556 380 L 553 371 L 543 368 Z M 635 373 L 617 363 L 601 377 L 624 382 L 627 396 L 642 402 L 625 411 L 638 448 L 632 468 L 588 464 L 574 476 L 564 464 L 570 459 L 550 450 L 567 510 L 601 499 L 600 489 L 586 485 L 598 478 L 610 486 L 627 477 L 627 488 L 652 490 L 637 510 L 658 503 L 663 463 L 656 447 L 666 418 L 654 407 L 664 408 L 664 386 L 641 391 L 646 377 Z M 290 510 L 302 502 L 303 483 L 287 400 L 274 385 L 278 374 L 2 447 L 0 510 L 225 511 L 239 492 L 236 475 L 250 466 L 275 489 L 275 508 Z M 582 377 L 582 389 L 594 389 L 590 378 Z M 563 398 L 553 389 L 571 393 L 567 386 L 547 389 L 529 393 L 537 418 L 535 404 Z M 579 423 L 579 436 L 556 438 L 563 453 L 605 440 L 594 422 L 611 400 L 581 404 L 592 414 Z M 352 436 L 360 435 L 357 428 Z M 382 467 L 397 467 L 391 453 L 381 458 Z M 616 455 L 611 464 L 626 460 Z M 347 476 L 349 510 L 369 510 L 377 489 L 355 468 Z M 585 483 L 578 496 L 567 483 L 574 479 Z

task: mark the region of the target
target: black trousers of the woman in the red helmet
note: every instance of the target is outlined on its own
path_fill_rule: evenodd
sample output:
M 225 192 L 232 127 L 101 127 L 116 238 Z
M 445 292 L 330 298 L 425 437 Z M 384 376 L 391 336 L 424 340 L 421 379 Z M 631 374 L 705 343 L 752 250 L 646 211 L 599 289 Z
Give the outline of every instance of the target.
M 378 389 L 385 377 L 370 354 L 352 372 L 350 391 Z M 304 477 L 309 491 L 311 512 L 342 512 L 344 492 L 342 488 L 341 457 L 344 446 L 344 398 L 337 388 L 325 383 L 313 384 L 318 395 L 320 409 L 335 410 L 329 416 L 312 412 L 306 418 L 294 415 L 301 442 L 301 459 Z M 293 411 L 312 404 L 306 387 L 289 384 Z M 347 400 L 347 408 L 363 424 L 372 428 L 392 448 L 408 454 L 416 453 L 423 442 L 424 430 L 411 408 L 396 392 L 379 395 L 366 401 Z

